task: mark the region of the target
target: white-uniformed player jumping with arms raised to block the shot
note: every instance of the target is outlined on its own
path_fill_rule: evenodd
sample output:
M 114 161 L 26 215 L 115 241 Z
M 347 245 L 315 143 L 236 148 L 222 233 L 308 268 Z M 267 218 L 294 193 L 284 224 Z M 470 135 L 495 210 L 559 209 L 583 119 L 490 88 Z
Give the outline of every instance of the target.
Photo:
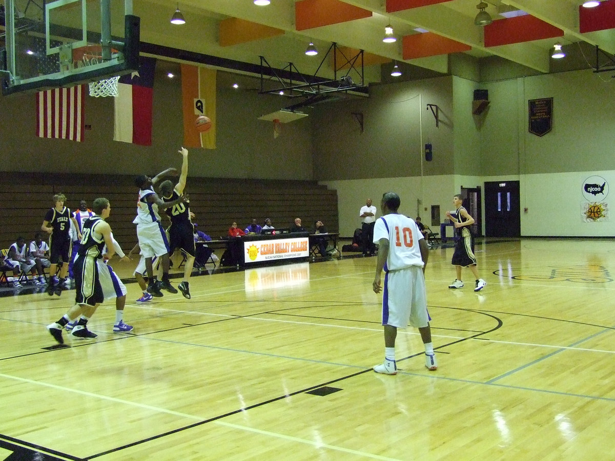
M 177 290 L 169 282 L 169 242 L 167 234 L 160 223 L 158 210 L 166 210 L 169 207 L 173 207 L 173 205 L 186 202 L 188 197 L 181 195 L 176 200 L 164 202 L 153 189 L 153 184 L 162 176 L 173 172 L 177 173 L 177 170 L 169 168 L 156 175 L 154 179 L 147 175 L 140 175 L 135 179 L 135 185 L 139 187 L 139 195 L 137 217 L 132 222 L 137 224 L 137 238 L 141 247 L 141 254 L 145 256 L 149 278 L 148 291 L 151 294 L 160 293 L 159 288 L 154 284 L 154 271 L 152 268 L 152 258 L 154 256 L 158 256 L 162 261 L 162 282 L 160 287 L 170 293 L 177 293 Z

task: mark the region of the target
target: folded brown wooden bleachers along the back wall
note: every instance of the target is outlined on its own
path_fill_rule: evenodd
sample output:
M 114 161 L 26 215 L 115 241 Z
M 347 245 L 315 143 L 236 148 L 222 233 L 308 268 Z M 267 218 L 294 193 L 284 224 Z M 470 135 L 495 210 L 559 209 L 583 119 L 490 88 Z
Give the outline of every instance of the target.
M 23 235 L 26 242 L 41 229 L 46 211 L 53 204 L 53 195 L 63 192 L 66 206 L 76 210 L 79 200 L 88 204 L 97 197 L 111 202 L 108 219 L 113 235 L 127 251 L 137 243 L 132 220 L 136 215 L 137 187 L 133 175 L 67 175 L 63 173 L 20 173 L 0 175 L 0 248 Z M 10 182 L 9 182 L 10 179 Z M 194 222 L 212 238 L 226 236 L 233 221 L 244 228 L 258 219 L 271 218 L 276 227 L 289 227 L 296 217 L 311 229 L 321 220 L 331 232 L 337 232 L 338 199 L 336 191 L 315 181 L 273 179 L 191 178 L 185 193 L 190 199 Z M 163 217 L 164 226 L 169 220 Z

